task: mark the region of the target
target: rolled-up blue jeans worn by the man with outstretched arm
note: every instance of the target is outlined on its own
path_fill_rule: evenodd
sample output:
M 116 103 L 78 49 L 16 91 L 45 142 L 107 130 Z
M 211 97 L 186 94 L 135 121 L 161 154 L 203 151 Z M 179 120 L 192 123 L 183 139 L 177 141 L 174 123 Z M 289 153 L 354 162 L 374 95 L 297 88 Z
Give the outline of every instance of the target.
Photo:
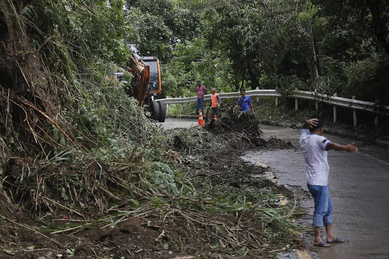
M 332 224 L 332 202 L 331 198 L 329 198 L 328 185 L 307 184 L 307 186 L 315 201 L 314 227 Z

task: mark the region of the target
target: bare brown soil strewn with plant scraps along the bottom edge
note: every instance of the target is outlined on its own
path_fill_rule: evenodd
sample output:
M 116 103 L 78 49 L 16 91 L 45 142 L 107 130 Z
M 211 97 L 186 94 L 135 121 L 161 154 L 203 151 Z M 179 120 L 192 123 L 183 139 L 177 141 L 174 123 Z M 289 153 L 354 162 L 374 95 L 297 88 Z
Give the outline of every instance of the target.
M 263 225 L 258 224 L 255 217 L 247 213 L 242 218 L 231 214 L 211 214 L 199 212 L 198 214 L 187 214 L 194 219 L 201 221 L 207 219 L 209 227 L 211 224 L 223 228 L 217 222 L 225 222 L 228 226 L 237 226 L 238 222 L 242 232 L 247 235 L 246 244 L 248 247 L 260 247 L 260 243 L 269 242 L 271 245 L 266 249 L 252 249 L 244 258 L 267 258 L 271 255 L 268 251 L 274 247 L 284 244 L 272 243 L 270 238 L 263 237 L 258 240 L 250 239 L 255 231 L 263 232 Z M 3 247 L 0 258 L 49 258 L 48 253 L 54 252 L 63 254 L 62 258 L 174 258 L 177 256 L 200 256 L 200 258 L 215 258 L 215 254 L 221 254 L 225 249 L 220 244 L 224 243 L 223 238 L 217 243 L 214 237 L 207 236 L 204 224 L 196 222 L 189 223 L 187 215 L 178 209 L 175 214 L 163 220 L 160 217 L 149 216 L 130 218 L 114 228 L 94 228 L 77 233 L 75 236 L 50 235 L 45 236 L 25 228 L 19 228 L 8 224 L 0 228 Z M 173 220 L 174 218 L 174 220 Z M 223 229 L 221 229 L 223 236 Z M 54 243 L 56 240 L 60 244 Z M 185 250 L 185 252 L 182 252 Z M 67 252 L 68 251 L 68 252 Z M 213 255 L 212 255 L 213 254 Z M 69 257 L 72 255 L 72 257 Z M 242 257 L 242 254 L 235 252 L 235 256 Z M 230 257 L 222 257 L 230 258 Z

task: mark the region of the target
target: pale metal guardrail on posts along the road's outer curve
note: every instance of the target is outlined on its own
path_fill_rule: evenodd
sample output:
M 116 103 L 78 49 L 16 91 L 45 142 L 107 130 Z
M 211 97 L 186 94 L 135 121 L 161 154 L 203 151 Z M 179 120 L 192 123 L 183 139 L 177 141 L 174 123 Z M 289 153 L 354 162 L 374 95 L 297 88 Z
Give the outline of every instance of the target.
M 277 93 L 275 90 L 263 90 L 263 89 L 256 89 L 256 90 L 249 90 L 246 91 L 246 95 L 250 97 L 256 97 L 257 101 L 260 96 L 275 96 L 275 105 L 277 106 L 278 103 L 278 97 L 281 96 L 281 94 Z M 204 100 L 210 100 L 210 94 L 207 94 L 204 96 Z M 227 98 L 239 98 L 240 93 L 239 92 L 233 92 L 233 93 L 219 93 L 220 98 L 227 99 Z M 292 91 L 291 95 L 286 96 L 290 98 L 295 98 L 295 109 L 298 109 L 298 99 L 305 99 L 305 100 L 313 100 L 316 102 L 316 110 L 318 109 L 318 103 L 319 101 L 322 103 L 328 103 L 330 105 L 334 105 L 334 122 L 336 122 L 336 107 L 345 107 L 353 109 L 353 117 L 354 117 L 354 126 L 357 125 L 357 117 L 356 117 L 356 110 L 364 110 L 368 112 L 372 112 L 375 114 L 375 124 L 378 124 L 378 114 L 384 114 L 389 115 L 389 106 L 385 105 L 378 105 L 377 103 L 369 102 L 369 101 L 360 101 L 355 100 L 355 96 L 353 96 L 353 99 L 347 99 L 336 96 L 330 96 L 327 94 L 319 94 L 316 92 L 308 92 L 308 91 L 300 91 L 300 90 L 294 90 Z M 197 100 L 197 96 L 193 97 L 183 97 L 183 98 L 165 98 L 160 99 L 165 102 L 165 104 L 173 104 L 173 103 L 192 103 Z

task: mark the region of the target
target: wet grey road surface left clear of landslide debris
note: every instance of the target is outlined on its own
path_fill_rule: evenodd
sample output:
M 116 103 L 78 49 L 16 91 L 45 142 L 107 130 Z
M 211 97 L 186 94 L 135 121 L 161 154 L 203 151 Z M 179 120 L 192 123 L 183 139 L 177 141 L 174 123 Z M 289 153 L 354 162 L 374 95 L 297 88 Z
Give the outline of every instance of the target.
M 165 127 L 196 125 L 196 120 L 166 119 Z M 261 125 L 266 138 L 277 137 L 292 142 L 294 149 L 250 152 L 244 159 L 268 166 L 279 184 L 289 186 L 300 195 L 301 204 L 310 215 L 313 200 L 307 193 L 304 159 L 298 140 L 298 129 Z M 325 135 L 338 144 L 353 142 L 350 139 Z M 389 150 L 355 142 L 357 154 L 329 151 L 329 189 L 333 202 L 333 230 L 346 243 L 330 248 L 310 249 L 320 259 L 389 259 Z M 311 224 L 310 221 L 305 221 Z M 322 233 L 325 237 L 325 232 Z M 308 235 L 307 246 L 313 236 Z

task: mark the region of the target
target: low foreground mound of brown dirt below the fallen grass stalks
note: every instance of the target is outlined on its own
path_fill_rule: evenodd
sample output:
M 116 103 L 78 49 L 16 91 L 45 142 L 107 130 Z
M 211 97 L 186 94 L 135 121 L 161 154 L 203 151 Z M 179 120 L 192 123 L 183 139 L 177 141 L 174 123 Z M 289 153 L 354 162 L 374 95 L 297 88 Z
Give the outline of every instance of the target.
M 59 258 L 60 254 L 62 258 L 76 259 L 215 258 L 217 254 L 224 255 L 226 250 L 230 250 L 230 256 L 235 258 L 268 258 L 272 255 L 269 251 L 275 247 L 290 244 L 287 240 L 273 237 L 268 231 L 264 223 L 271 219 L 266 216 L 268 209 L 263 209 L 263 218 L 254 213 L 256 207 L 247 208 L 242 216 L 237 217 L 235 213 L 220 213 L 234 209 L 227 205 L 219 207 L 219 212 L 214 213 L 182 210 L 182 205 L 182 202 L 177 202 L 168 209 L 161 207 L 164 213 L 154 210 L 122 219 L 113 228 L 107 227 L 106 223 L 91 224 L 91 221 L 85 220 L 89 229 L 73 235 L 51 234 L 49 231 L 38 234 L 24 226 L 2 226 L 4 240 L 1 242 L 0 258 L 48 259 L 47 255 Z M 201 206 L 200 203 L 198 205 Z M 72 219 L 61 221 L 63 225 L 77 226 L 78 223 Z M 245 245 L 243 250 L 239 249 L 241 243 Z

